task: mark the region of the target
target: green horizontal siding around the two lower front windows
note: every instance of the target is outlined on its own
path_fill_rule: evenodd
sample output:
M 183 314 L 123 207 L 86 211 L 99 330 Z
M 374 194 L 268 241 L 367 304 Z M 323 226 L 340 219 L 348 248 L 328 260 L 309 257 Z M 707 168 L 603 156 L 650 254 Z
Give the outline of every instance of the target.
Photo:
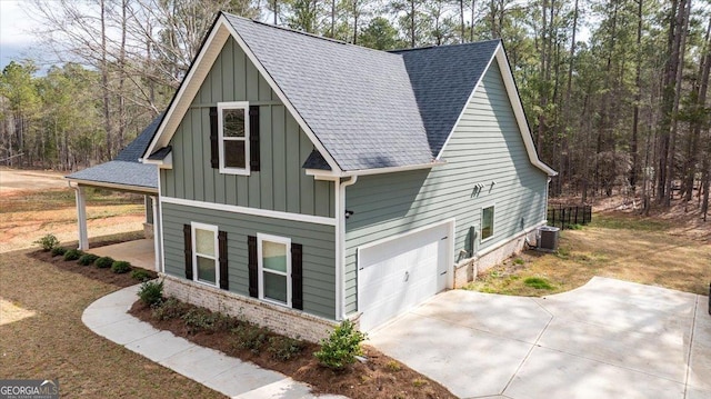
M 247 237 L 287 237 L 303 246 L 303 310 L 333 319 L 336 315 L 336 230 L 333 226 L 258 217 L 174 203 L 162 205 L 166 273 L 184 278 L 183 225 L 200 222 L 227 231 L 230 291 L 249 297 Z

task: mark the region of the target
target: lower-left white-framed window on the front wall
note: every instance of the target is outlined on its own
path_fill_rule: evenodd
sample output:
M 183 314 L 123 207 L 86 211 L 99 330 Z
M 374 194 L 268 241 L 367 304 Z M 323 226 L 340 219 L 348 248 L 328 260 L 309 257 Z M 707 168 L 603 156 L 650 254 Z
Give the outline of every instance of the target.
M 192 279 L 206 285 L 220 286 L 218 227 L 192 222 Z

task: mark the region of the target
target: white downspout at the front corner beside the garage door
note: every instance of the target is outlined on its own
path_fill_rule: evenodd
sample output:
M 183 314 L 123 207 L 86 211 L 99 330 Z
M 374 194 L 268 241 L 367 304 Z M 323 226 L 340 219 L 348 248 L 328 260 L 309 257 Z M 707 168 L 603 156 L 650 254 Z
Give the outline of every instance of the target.
M 351 176 L 346 181 L 336 181 L 336 320 L 346 318 L 346 188 L 358 181 Z

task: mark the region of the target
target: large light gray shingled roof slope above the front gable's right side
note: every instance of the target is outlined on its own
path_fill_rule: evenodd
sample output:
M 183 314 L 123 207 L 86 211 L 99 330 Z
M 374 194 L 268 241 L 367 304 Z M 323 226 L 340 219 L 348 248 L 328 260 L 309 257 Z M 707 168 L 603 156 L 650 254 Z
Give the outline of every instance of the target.
M 402 57 L 226 17 L 341 169 L 432 160 Z

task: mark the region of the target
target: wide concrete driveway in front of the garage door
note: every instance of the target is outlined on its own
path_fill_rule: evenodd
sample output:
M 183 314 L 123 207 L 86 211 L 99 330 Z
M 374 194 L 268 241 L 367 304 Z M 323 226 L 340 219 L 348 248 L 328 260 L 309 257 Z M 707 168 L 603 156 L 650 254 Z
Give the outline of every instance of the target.
M 708 298 L 614 279 L 544 298 L 451 290 L 369 343 L 460 398 L 711 398 Z

